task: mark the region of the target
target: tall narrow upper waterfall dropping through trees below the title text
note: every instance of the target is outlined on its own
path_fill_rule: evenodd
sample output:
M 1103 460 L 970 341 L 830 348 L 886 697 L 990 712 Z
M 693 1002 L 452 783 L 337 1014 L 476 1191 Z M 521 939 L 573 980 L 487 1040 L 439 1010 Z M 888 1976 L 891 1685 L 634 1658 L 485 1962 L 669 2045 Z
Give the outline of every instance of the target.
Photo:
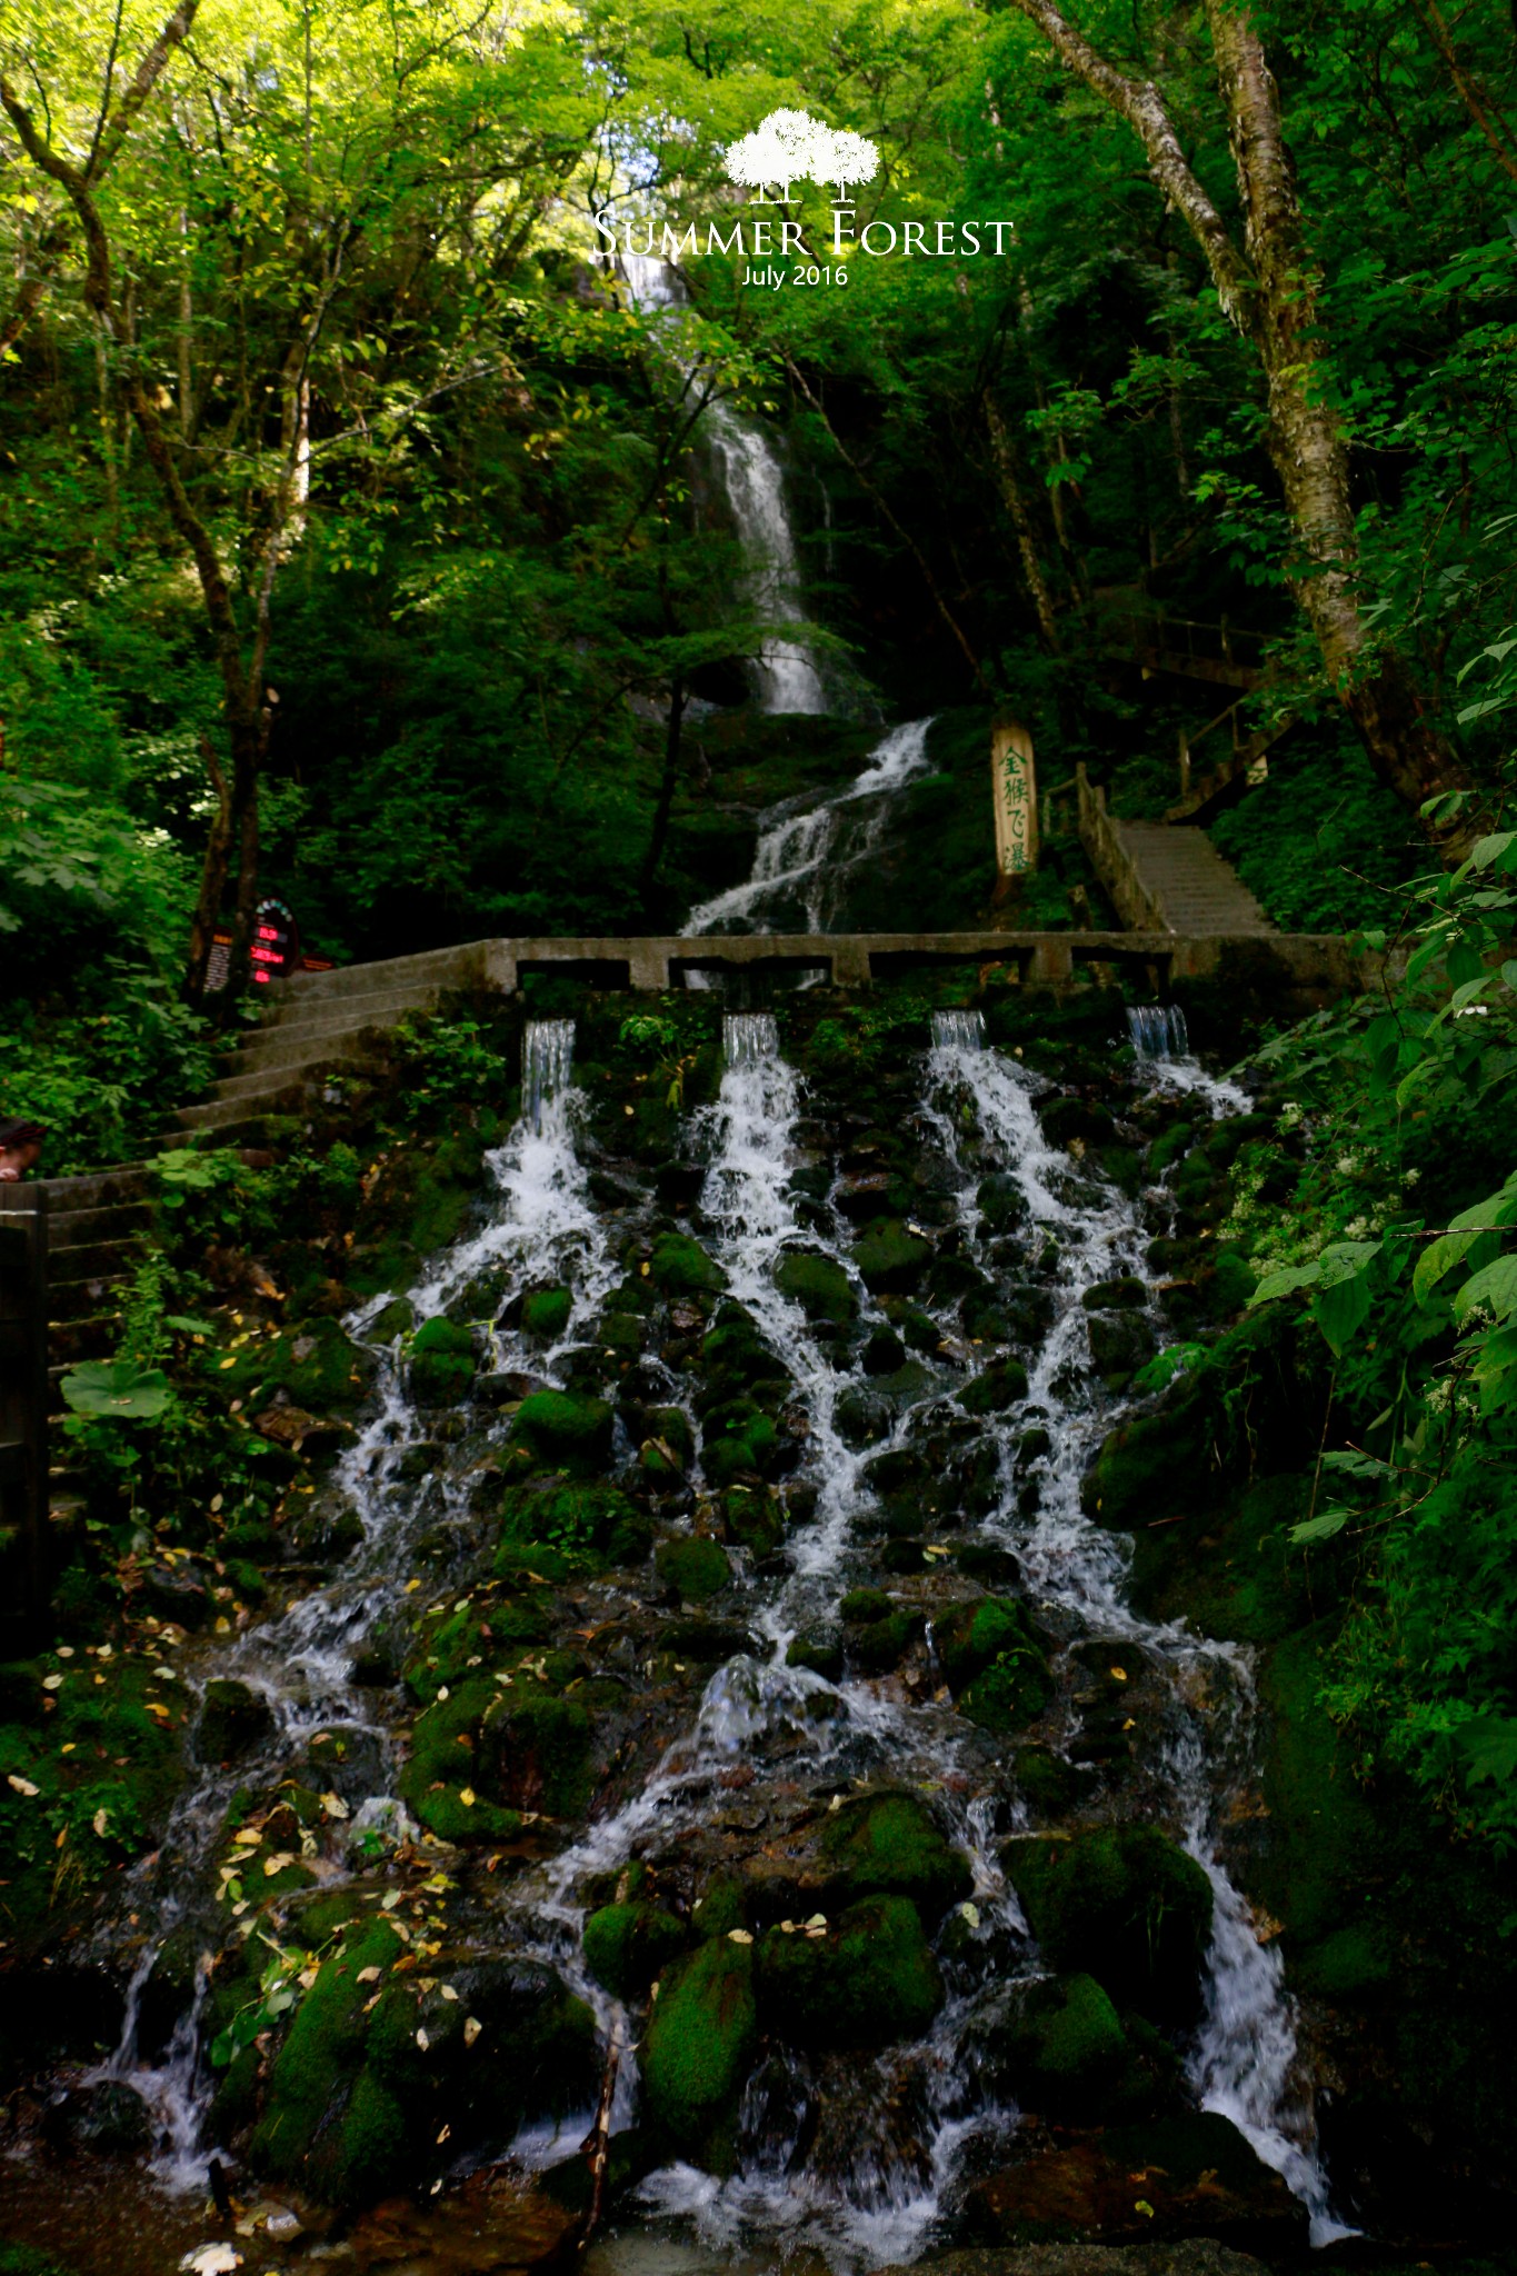
M 621 255 L 632 305 L 646 312 L 689 310 L 685 282 L 669 262 Z M 769 430 L 730 403 L 716 401 L 705 421 L 712 462 L 748 560 L 746 601 L 769 624 L 794 626 L 796 637 L 769 635 L 753 667 L 760 710 L 826 712 L 828 694 L 805 646 L 810 619 L 801 592 L 801 562 L 785 503 L 785 471 Z

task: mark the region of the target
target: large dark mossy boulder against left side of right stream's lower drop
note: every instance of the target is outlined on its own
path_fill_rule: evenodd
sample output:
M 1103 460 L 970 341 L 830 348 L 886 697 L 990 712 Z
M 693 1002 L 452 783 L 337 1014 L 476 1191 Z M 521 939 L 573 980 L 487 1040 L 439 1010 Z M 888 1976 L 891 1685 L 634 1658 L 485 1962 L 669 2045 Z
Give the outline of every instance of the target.
M 1099 1973 L 1112 1998 L 1155 2023 L 1194 2017 L 1212 1885 L 1158 1825 L 1008 1841 L 1003 1864 L 1055 1969 Z

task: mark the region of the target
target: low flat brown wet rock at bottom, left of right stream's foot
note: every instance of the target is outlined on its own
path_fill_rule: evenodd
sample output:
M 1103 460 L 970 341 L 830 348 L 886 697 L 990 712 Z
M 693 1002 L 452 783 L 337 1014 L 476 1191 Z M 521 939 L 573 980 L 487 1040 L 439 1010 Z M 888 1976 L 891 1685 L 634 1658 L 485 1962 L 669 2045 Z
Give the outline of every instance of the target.
M 1228 2119 L 1201 2112 L 1108 2128 L 1094 2142 L 1008 2167 L 969 2192 L 967 2226 L 1001 2244 L 1142 2237 L 1151 2246 L 1155 2237 L 1203 2235 L 1212 2251 L 1276 2253 L 1303 2242 L 1305 2208 Z

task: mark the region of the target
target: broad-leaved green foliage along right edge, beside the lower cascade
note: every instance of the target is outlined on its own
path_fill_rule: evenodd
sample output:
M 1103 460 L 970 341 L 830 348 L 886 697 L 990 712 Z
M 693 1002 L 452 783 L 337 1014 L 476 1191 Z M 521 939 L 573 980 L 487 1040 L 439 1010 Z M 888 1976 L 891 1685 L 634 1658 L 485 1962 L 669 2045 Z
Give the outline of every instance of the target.
M 1406 979 L 1267 1054 L 1312 1133 L 1280 1252 L 1244 1209 L 1253 1304 L 1305 1304 L 1337 1366 L 1335 1441 L 1303 1545 L 1346 1541 L 1362 1589 L 1326 1684 L 1360 1762 L 1517 1844 L 1517 838 L 1421 888 Z M 1274 1252 L 1274 1254 L 1269 1254 Z

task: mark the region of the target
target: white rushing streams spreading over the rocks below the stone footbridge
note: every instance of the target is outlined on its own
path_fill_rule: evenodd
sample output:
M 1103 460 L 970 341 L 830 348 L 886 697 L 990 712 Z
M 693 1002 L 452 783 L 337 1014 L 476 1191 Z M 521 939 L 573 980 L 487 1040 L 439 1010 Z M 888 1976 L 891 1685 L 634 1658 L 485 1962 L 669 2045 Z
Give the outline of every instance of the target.
M 1164 1040 L 1174 1042 L 1167 1026 Z M 689 2164 L 653 2174 L 641 2208 L 678 2265 L 691 2230 L 714 2253 L 787 2256 L 812 2251 L 839 2271 L 910 2260 L 939 2233 L 976 2144 L 1005 2144 L 1017 2110 L 996 2085 L 985 2055 L 1005 2021 L 1014 1987 L 1042 1971 L 1026 1921 L 1010 1891 L 996 1844 L 1008 1828 L 1008 1798 L 976 1791 L 971 1727 L 946 1693 L 910 1693 L 894 1677 L 830 1682 L 787 1664 L 798 1634 L 835 1618 L 837 1602 L 867 1568 L 862 1527 L 876 1511 L 869 1468 L 876 1457 L 910 1445 L 923 1416 L 958 1416 L 953 1393 L 971 1363 L 955 1316 L 935 1318 L 944 1343 L 901 1370 L 894 1407 L 860 1445 L 846 1427 L 848 1395 L 878 1397 L 864 1375 L 857 1338 L 848 1338 L 785 1293 L 785 1259 L 816 1256 L 844 1272 L 864 1329 L 885 1325 L 853 1263 L 855 1229 L 832 1202 L 801 1206 L 794 1174 L 805 1163 L 803 1083 L 780 1056 L 769 1013 L 728 1015 L 726 1072 L 714 1106 L 701 1111 L 698 1140 L 707 1174 L 701 1193 L 705 1240 L 739 1304 L 791 1379 L 787 1416 L 796 1418 L 794 1482 L 814 1495 L 814 1511 L 794 1523 L 782 1559 L 732 1550 L 737 1618 L 753 1636 L 705 1682 L 689 1725 L 653 1773 L 616 1809 L 546 1864 L 498 1891 L 491 1937 L 559 1969 L 591 2003 L 603 2035 L 625 2042 L 614 2130 L 637 2124 L 639 2076 L 635 2019 L 625 2017 L 585 1966 L 580 1930 L 585 1885 L 637 1857 L 660 1859 L 694 1841 L 714 1809 L 730 1803 L 732 1782 L 773 1782 L 778 1791 L 835 1791 L 853 1782 L 930 1789 L 935 1809 L 973 1869 L 971 1914 L 960 1923 L 960 1960 L 946 1969 L 946 2003 L 921 2042 L 882 2053 L 771 2053 L 748 2083 L 739 2119 L 739 2167 L 716 2180 Z M 1144 1052 L 1139 1079 L 1158 1086 L 1180 1070 L 1185 1088 L 1212 1113 L 1246 1104 L 1194 1058 Z M 926 1156 L 948 1172 L 958 1195 L 958 1229 L 967 1254 L 996 1279 L 1001 1272 L 980 1204 L 987 1172 L 1008 1172 L 1026 1204 L 1026 1229 L 1039 1236 L 1051 1325 L 1028 1370 L 1028 1395 L 983 1429 L 998 1450 L 994 1507 L 973 1532 L 1017 1557 L 1035 1607 L 1062 1636 L 1121 1639 L 1164 1675 L 1164 1718 L 1144 1759 L 1158 1803 L 1151 1814 L 1199 1859 L 1215 1894 L 1215 1928 L 1205 1971 L 1205 2005 L 1185 2055 L 1189 2087 L 1205 2110 L 1226 2114 L 1280 2171 L 1312 2217 L 1312 2237 L 1344 2230 L 1333 2221 L 1326 2180 L 1315 2158 L 1310 2085 L 1296 2048 L 1290 1991 L 1278 1951 L 1260 1941 L 1242 1891 L 1226 1871 L 1219 1828 L 1249 1775 L 1253 1682 L 1249 1652 L 1210 1643 L 1183 1625 L 1139 1618 L 1128 1605 L 1128 1555 L 1121 1534 L 1080 1511 L 1080 1479 L 1103 1434 L 1121 1413 L 1092 1375 L 1083 1295 L 1099 1281 L 1144 1275 L 1146 1229 L 1135 1202 L 1119 1193 L 1094 1158 L 1053 1147 L 1037 1118 L 1039 1083 L 1014 1058 L 987 1047 L 978 1013 L 946 1011 L 932 1022 L 923 1065 L 921 1122 Z M 573 1026 L 534 1022 L 523 1049 L 523 1113 L 491 1156 L 487 1222 L 432 1265 L 414 1290 L 418 1320 L 434 1316 L 507 1320 L 516 1300 L 541 1286 L 569 1286 L 571 1311 L 559 1338 L 544 1350 L 514 1327 L 489 1329 L 498 1370 L 559 1379 L 566 1352 L 585 1341 L 623 1265 L 598 1215 L 578 1127 Z M 837 1197 L 835 1195 L 832 1199 Z M 341 1486 L 362 1514 L 364 1539 L 341 1575 L 298 1598 L 262 1627 L 239 1636 L 216 1673 L 239 1675 L 271 1707 L 273 1734 L 237 1771 L 205 1773 L 180 1807 L 164 1841 L 164 1864 L 139 1871 L 139 1900 L 161 1930 L 182 1916 L 180 1894 L 209 1871 L 232 1784 L 273 1784 L 323 1739 L 343 1739 L 362 1759 L 362 1805 L 353 1828 L 405 1837 L 393 1798 L 391 1732 L 373 1693 L 353 1684 L 353 1652 L 400 1602 L 412 1543 L 423 1527 L 466 1525 L 466 1486 L 434 1475 L 416 1479 L 407 1454 L 434 1429 L 407 1388 L 403 1338 L 384 1343 L 384 1300 L 364 1306 L 353 1327 L 380 1366 L 373 1413 L 343 1457 Z M 1153 1316 L 1162 1336 L 1162 1322 Z M 685 1379 L 662 1361 L 669 1402 L 689 1397 Z M 1039 1422 L 1048 1452 L 1017 1468 L 1017 1443 Z M 1033 1502 L 1028 1486 L 1035 1486 Z M 694 1479 L 694 1500 L 703 1493 Z M 685 1518 L 675 1518 L 685 1523 Z M 330 1762 L 330 1757 L 323 1757 Z M 964 1775 L 960 1775 L 960 1764 Z M 1010 1823 L 1019 1805 L 1010 1803 Z M 1001 1812 L 1001 1814 L 998 1814 Z M 325 1873 L 341 1873 L 323 1859 Z M 257 1914 L 252 1914 L 257 1919 Z M 967 1939 L 967 1941 L 964 1941 Z M 180 2017 L 161 2055 L 136 2044 L 152 1953 L 139 1964 L 127 2028 L 116 2058 L 98 2076 L 127 2080 L 161 2135 L 157 2174 L 184 2190 L 205 2185 L 214 2144 L 205 2139 L 209 2076 L 198 2044 L 205 1976 L 193 2007 Z M 537 2126 L 514 2144 L 525 2164 L 569 2155 L 589 2112 L 559 2126 Z M 807 2133 L 810 2128 L 810 2133 Z M 814 2139 L 812 2139 L 814 2137 Z M 801 2142 L 812 2146 L 801 2153 Z M 505 2144 L 503 2144 L 505 2149 Z M 989 2149 L 987 2149 L 989 2153 Z M 614 2253 L 614 2240 L 607 2244 Z M 619 2265 L 614 2258 L 607 2265 Z M 769 2262 L 771 2265 L 771 2262 Z

